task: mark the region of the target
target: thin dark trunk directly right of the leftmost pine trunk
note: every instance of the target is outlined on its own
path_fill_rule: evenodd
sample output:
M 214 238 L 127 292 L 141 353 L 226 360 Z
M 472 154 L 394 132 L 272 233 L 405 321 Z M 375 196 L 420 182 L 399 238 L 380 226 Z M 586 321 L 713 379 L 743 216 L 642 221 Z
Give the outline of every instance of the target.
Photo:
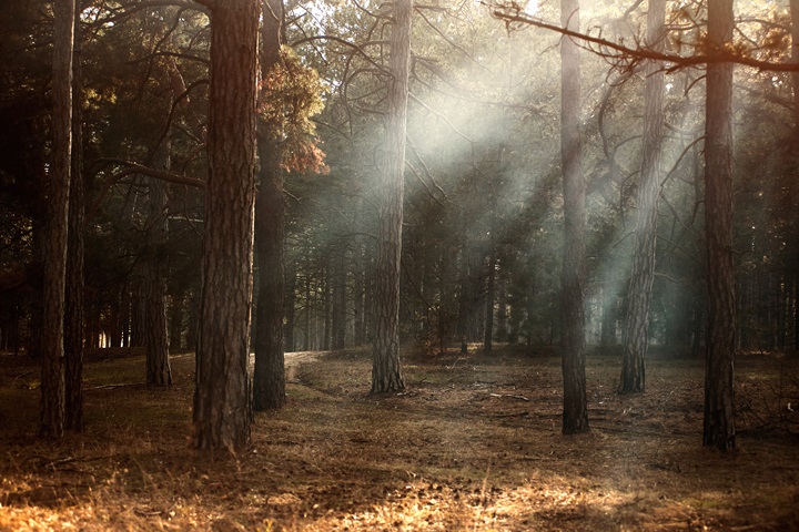
M 69 198 L 69 235 L 64 303 L 64 428 L 83 430 L 83 80 L 80 10 L 74 10 L 72 53 L 72 174 Z

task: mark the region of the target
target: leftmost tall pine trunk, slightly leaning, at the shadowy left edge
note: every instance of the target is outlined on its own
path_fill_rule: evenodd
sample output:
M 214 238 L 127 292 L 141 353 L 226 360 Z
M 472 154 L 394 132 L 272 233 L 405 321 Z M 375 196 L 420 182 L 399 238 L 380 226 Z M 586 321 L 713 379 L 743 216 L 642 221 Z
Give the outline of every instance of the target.
M 44 239 L 39 434 L 61 438 L 64 424 L 64 291 L 72 166 L 72 48 L 74 0 L 55 0 L 52 62 L 52 161 Z

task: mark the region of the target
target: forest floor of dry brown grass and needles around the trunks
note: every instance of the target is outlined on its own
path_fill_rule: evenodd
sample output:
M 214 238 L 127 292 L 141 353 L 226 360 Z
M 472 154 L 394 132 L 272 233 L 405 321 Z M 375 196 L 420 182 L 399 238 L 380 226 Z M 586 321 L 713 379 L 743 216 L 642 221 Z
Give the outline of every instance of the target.
M 799 530 L 799 357 L 740 355 L 737 450 L 701 446 L 702 362 L 654 354 L 647 392 L 588 357 L 591 430 L 560 434 L 560 360 L 287 355 L 287 406 L 237 456 L 190 449 L 193 355 L 148 389 L 141 351 L 85 364 L 82 434 L 36 438 L 39 369 L 0 355 L 0 530 Z

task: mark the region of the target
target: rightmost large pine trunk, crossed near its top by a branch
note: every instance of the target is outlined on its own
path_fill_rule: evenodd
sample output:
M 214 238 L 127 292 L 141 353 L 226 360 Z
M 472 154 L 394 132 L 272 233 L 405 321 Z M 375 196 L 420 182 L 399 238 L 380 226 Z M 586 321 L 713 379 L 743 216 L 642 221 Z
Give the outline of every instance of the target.
M 708 0 L 708 45 L 732 40 L 732 0 Z M 708 338 L 704 443 L 735 448 L 734 359 L 736 295 L 732 267 L 732 64 L 707 66 L 705 227 Z

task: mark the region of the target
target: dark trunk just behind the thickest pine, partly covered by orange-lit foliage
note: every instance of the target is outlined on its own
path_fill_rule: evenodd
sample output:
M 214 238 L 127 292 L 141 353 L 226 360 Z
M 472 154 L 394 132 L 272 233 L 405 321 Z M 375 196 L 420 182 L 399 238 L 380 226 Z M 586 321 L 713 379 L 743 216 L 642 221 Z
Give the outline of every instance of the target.
M 261 79 L 280 64 L 283 31 L 282 0 L 263 2 L 261 24 Z M 255 314 L 255 376 L 253 408 L 267 410 L 285 405 L 283 315 L 285 305 L 285 237 L 283 173 L 280 132 L 259 123 L 261 190 L 255 201 L 255 245 L 259 260 L 259 294 Z

